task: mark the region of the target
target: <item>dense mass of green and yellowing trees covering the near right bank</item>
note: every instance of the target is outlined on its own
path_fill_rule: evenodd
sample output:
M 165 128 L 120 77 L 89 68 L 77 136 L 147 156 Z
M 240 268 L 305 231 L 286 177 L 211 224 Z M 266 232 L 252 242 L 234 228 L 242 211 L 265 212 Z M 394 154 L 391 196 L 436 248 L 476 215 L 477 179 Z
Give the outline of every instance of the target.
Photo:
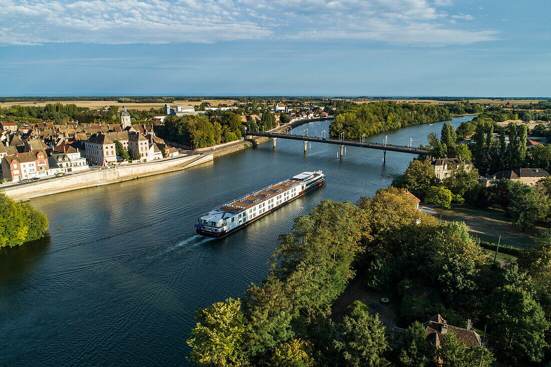
M 549 358 L 549 259 L 545 233 L 517 262 L 493 263 L 464 223 L 439 223 L 403 189 L 356 204 L 322 201 L 280 236 L 261 284 L 197 312 L 190 359 L 210 366 L 540 363 Z M 334 317 L 332 305 L 352 279 L 382 294 L 397 289 L 392 301 L 406 331 L 391 332 L 360 301 Z M 467 346 L 452 332 L 435 348 L 419 322 L 436 313 L 450 325 L 487 325 L 493 348 Z

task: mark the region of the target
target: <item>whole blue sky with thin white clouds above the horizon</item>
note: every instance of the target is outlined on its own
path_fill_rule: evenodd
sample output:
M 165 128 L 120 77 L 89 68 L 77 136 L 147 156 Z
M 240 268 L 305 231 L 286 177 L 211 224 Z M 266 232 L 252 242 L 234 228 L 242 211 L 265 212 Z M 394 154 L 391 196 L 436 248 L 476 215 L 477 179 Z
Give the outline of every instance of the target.
M 0 95 L 551 96 L 548 0 L 0 0 Z

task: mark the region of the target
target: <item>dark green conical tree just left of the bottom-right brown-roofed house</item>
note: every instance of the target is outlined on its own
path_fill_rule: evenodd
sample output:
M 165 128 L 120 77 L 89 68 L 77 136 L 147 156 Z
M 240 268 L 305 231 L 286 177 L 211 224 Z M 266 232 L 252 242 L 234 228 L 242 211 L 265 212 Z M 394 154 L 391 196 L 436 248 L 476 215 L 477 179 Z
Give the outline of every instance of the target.
M 409 325 L 403 338 L 400 361 L 407 367 L 429 366 L 435 358 L 435 348 L 426 340 L 425 327 L 418 321 Z

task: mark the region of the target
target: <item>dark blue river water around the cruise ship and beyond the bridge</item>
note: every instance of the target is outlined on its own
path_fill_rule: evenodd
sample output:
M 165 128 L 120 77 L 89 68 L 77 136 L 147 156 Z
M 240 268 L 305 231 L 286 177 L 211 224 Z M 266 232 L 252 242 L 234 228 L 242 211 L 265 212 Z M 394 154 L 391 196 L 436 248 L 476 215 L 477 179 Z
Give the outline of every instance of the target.
M 473 116 L 455 118 L 458 126 Z M 329 122 L 294 129 L 320 136 Z M 388 132 L 388 143 L 426 143 L 442 123 Z M 366 141 L 382 142 L 385 134 Z M 45 196 L 47 238 L 0 249 L 0 365 L 186 365 L 194 311 L 260 282 L 293 218 L 323 199 L 372 195 L 413 155 L 279 139 L 213 163 Z M 323 170 L 310 192 L 223 240 L 195 234 L 197 217 L 257 188 Z

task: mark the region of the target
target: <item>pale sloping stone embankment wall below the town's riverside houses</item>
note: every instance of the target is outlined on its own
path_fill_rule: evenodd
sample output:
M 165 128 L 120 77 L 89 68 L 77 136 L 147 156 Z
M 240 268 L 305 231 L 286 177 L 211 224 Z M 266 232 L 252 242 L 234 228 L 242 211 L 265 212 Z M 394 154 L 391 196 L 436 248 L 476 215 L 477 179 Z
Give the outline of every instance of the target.
M 213 158 L 213 154 L 198 154 L 166 158 L 149 163 L 104 167 L 94 171 L 56 177 L 55 179 L 6 187 L 4 193 L 14 200 L 24 201 L 81 188 L 109 185 L 115 182 L 179 171 L 212 161 Z

